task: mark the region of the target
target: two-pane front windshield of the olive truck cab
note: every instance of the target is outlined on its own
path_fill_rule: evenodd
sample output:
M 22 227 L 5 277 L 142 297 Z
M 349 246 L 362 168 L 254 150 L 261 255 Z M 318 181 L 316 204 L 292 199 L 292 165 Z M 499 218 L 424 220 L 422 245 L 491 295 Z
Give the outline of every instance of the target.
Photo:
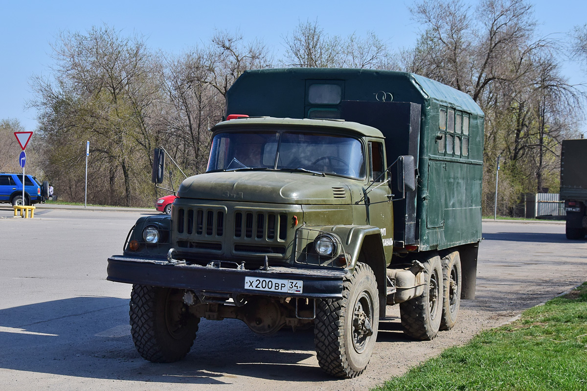
M 365 178 L 365 155 L 356 138 L 295 131 L 227 132 L 214 136 L 207 171 L 307 170 Z

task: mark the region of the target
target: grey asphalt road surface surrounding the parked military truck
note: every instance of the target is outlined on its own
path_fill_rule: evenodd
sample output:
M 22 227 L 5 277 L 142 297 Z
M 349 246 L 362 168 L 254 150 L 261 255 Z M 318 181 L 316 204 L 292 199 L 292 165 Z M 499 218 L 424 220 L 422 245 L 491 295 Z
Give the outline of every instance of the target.
M 131 287 L 106 281 L 107 257 L 153 213 L 39 208 L 21 219 L 0 205 L 1 390 L 366 390 L 587 280 L 587 244 L 566 240 L 564 225 L 484 222 L 477 298 L 461 304 L 457 326 L 410 341 L 387 307 L 357 379 L 321 372 L 312 331 L 262 337 L 232 319 L 203 320 L 183 361 L 153 364 L 130 337 Z

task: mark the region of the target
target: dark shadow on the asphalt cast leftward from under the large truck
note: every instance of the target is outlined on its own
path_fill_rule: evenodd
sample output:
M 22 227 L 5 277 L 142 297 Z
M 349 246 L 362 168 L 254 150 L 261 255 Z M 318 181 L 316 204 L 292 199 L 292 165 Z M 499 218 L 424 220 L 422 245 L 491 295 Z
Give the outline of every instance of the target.
M 336 381 L 316 365 L 313 329 L 258 336 L 234 319 L 200 322 L 183 361 L 147 362 L 134 348 L 128 305 L 120 298 L 76 297 L 0 310 L 0 368 L 164 383 L 224 384 L 235 376 Z

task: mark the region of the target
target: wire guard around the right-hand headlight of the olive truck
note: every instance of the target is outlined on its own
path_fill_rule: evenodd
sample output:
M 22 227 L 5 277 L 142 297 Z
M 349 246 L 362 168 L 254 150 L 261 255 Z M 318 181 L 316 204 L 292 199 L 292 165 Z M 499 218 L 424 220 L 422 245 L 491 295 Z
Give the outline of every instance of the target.
M 332 256 L 323 256 L 316 253 L 314 243 L 317 237 L 326 235 L 336 245 L 335 253 Z M 345 247 L 338 235 L 319 229 L 301 227 L 295 233 L 295 262 L 301 264 L 344 268 L 350 263 L 350 256 L 346 253 Z

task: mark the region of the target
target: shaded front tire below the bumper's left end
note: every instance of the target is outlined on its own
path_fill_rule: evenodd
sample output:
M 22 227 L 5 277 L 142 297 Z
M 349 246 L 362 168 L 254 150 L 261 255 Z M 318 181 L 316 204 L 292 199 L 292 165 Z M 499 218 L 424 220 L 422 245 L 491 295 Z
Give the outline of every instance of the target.
M 133 285 L 130 333 L 139 354 L 151 362 L 181 360 L 194 344 L 200 318 L 183 303 L 183 291 Z

